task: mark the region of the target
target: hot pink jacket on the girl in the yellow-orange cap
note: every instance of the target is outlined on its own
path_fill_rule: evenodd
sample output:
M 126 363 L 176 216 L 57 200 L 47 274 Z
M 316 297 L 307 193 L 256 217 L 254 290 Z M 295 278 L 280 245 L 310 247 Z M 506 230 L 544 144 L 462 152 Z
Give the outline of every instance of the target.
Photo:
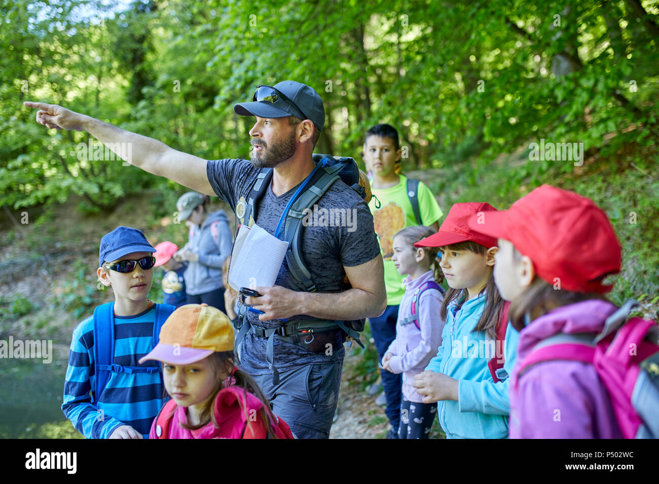
M 241 387 L 231 386 L 221 389 L 215 401 L 215 419 L 213 422 L 197 430 L 181 427 L 187 423 L 187 408 L 177 406 L 169 424 L 169 439 L 266 439 L 266 425 L 259 410 L 263 404 L 254 394 L 246 392 Z M 149 433 L 149 439 L 158 439 L 154 419 Z

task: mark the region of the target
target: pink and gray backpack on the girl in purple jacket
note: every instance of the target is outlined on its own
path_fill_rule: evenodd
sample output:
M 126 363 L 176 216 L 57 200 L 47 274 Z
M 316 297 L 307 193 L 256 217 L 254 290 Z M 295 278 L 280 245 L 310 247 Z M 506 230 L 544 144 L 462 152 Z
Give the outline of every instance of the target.
M 536 363 L 590 363 L 608 390 L 623 437 L 659 438 L 659 327 L 649 319 L 627 319 L 637 306 L 636 301 L 625 302 L 595 338 L 559 333 L 543 340 L 520 363 L 513 387 L 517 389 L 517 379 Z

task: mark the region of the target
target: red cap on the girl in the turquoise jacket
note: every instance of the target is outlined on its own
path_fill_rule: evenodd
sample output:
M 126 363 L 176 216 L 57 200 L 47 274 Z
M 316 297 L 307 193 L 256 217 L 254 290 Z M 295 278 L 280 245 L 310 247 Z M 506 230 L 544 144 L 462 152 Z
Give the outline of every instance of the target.
M 440 227 L 440 231 L 414 244 L 415 247 L 444 247 L 459 242 L 476 242 L 487 248 L 497 244 L 496 237 L 484 235 L 469 227 L 471 217 L 484 217 L 486 211 L 496 211 L 490 203 L 453 203 L 448 215 Z

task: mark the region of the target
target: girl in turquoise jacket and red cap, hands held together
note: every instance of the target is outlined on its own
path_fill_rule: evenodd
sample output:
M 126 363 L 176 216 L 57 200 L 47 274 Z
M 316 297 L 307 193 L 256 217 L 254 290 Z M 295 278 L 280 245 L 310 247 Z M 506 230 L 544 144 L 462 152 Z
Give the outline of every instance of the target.
M 508 435 L 504 373 L 514 363 L 517 332 L 506 331 L 503 342 L 498 331 L 499 321 L 505 320 L 503 300 L 492 277 L 496 238 L 470 229 L 467 223 L 492 211 L 488 203 L 455 203 L 439 232 L 415 244 L 440 248 L 440 267 L 450 286 L 439 315 L 446 321 L 442 345 L 413 383 L 424 404 L 438 402 L 438 418 L 448 439 Z M 504 349 L 503 373 L 494 374 L 489 365 L 504 360 Z

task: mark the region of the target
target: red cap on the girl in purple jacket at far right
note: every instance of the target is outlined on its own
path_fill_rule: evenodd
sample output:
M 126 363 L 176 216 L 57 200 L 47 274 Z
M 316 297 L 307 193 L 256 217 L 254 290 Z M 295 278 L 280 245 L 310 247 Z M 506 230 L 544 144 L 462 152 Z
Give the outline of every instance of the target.
M 509 210 L 471 217 L 473 230 L 512 242 L 538 275 L 575 292 L 609 292 L 602 278 L 620 272 L 621 246 L 608 215 L 589 198 L 542 185 Z

